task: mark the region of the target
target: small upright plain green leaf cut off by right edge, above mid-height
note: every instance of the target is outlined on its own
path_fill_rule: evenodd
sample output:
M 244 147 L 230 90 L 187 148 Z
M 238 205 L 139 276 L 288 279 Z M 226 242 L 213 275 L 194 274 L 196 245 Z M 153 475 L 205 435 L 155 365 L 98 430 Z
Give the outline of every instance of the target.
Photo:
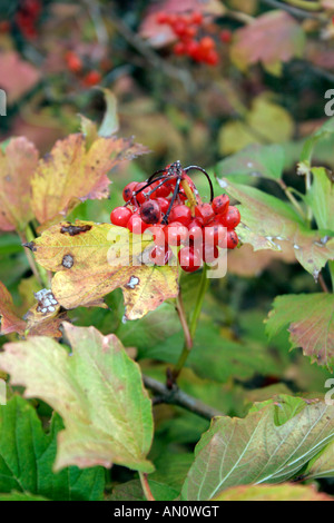
M 314 180 L 308 198 L 316 224 L 320 229 L 333 230 L 334 236 L 334 184 L 324 167 L 315 167 L 312 172 Z

